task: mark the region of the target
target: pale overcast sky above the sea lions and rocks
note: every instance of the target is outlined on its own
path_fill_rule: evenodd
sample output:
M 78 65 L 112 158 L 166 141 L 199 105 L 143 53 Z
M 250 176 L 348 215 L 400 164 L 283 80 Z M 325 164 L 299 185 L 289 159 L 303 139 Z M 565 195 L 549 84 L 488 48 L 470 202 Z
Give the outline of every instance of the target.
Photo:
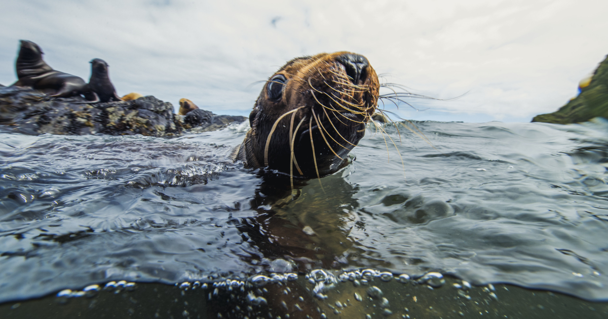
M 417 120 L 529 122 L 576 94 L 608 54 L 608 1 L 0 2 L 0 83 L 16 81 L 19 39 L 54 69 L 108 62 L 120 95 L 139 92 L 218 114 L 249 114 L 291 58 L 348 50 L 384 81 L 455 101 L 412 100 Z

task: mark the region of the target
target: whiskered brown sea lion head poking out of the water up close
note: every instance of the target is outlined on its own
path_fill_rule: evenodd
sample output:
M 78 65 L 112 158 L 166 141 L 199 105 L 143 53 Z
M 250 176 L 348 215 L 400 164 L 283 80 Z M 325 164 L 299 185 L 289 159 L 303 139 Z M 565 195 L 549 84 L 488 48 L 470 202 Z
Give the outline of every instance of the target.
M 362 55 L 295 58 L 264 84 L 237 159 L 305 178 L 334 173 L 365 134 L 378 94 L 378 75 Z

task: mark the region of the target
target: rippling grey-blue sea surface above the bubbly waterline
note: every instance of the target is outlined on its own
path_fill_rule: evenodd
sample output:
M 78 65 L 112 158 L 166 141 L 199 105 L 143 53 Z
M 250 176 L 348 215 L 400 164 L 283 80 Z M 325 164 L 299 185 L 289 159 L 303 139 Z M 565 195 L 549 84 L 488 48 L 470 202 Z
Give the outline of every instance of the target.
M 0 303 L 110 280 L 375 268 L 608 300 L 608 124 L 368 129 L 320 180 L 227 157 L 248 123 L 174 139 L 0 127 Z M 401 143 L 399 143 L 399 135 Z

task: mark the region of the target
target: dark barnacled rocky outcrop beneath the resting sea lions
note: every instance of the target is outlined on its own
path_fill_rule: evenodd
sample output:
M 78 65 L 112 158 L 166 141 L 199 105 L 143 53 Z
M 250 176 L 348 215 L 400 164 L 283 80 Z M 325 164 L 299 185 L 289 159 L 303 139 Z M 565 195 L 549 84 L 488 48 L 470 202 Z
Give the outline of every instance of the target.
M 202 111 L 202 110 L 200 110 Z M 153 96 L 131 101 L 86 104 L 81 97 L 47 98 L 19 87 L 0 87 L 0 123 L 24 134 L 109 134 L 175 136 L 212 131 L 243 116 L 216 115 L 188 120 L 173 113 L 173 105 Z

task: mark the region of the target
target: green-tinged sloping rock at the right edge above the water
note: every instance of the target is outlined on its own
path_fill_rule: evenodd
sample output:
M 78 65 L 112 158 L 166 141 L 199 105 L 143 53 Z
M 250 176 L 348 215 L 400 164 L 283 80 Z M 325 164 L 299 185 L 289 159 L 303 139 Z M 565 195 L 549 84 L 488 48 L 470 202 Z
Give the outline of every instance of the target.
M 584 79 L 579 84 L 580 94 L 558 111 L 536 115 L 532 122 L 580 123 L 594 117 L 608 118 L 608 56 L 593 72 L 591 81 Z

